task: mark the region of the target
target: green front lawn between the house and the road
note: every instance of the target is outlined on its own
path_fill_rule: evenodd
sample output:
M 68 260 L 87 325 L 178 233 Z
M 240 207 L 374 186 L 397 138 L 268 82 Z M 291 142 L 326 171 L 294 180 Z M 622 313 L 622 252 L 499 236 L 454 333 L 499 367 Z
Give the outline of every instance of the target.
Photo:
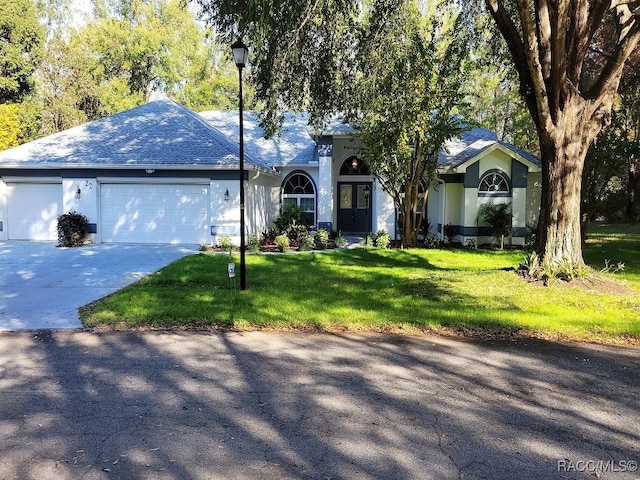
M 624 262 L 624 288 L 527 283 L 520 251 L 365 250 L 247 255 L 248 290 L 228 257 L 172 263 L 81 309 L 85 326 L 466 332 L 640 343 L 640 227 L 594 227 L 585 260 Z M 237 259 L 236 259 L 237 261 Z M 587 288 L 585 288 L 585 284 Z

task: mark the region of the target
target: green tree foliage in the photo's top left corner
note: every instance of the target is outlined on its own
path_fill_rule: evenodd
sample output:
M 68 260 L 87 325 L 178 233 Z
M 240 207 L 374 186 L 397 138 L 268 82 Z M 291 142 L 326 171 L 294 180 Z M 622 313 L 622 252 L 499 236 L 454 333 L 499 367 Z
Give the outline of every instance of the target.
M 0 104 L 19 102 L 34 88 L 44 28 L 33 0 L 0 0 Z

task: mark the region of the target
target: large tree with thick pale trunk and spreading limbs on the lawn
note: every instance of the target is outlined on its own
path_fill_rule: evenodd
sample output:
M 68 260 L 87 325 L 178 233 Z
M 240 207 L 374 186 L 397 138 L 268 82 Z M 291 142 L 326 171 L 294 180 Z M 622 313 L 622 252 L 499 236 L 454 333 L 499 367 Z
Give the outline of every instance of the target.
M 543 261 L 584 264 L 580 191 L 587 148 L 611 121 L 623 66 L 640 40 L 636 0 L 485 0 L 504 37 L 520 93 L 536 125 L 542 159 L 542 199 L 536 250 Z M 591 49 L 606 23 L 615 41 Z M 584 67 L 605 59 L 595 75 Z

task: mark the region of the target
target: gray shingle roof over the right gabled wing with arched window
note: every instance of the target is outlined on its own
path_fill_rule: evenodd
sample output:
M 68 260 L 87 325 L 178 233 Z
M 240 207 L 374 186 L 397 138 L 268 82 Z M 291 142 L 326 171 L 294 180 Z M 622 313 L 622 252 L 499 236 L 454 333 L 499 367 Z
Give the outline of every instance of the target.
M 454 169 L 495 144 L 511 150 L 535 165 L 540 164 L 540 160 L 534 154 L 498 140 L 498 136 L 491 130 L 472 128 L 445 143 L 445 148 L 438 155 L 438 167 L 444 170 Z

